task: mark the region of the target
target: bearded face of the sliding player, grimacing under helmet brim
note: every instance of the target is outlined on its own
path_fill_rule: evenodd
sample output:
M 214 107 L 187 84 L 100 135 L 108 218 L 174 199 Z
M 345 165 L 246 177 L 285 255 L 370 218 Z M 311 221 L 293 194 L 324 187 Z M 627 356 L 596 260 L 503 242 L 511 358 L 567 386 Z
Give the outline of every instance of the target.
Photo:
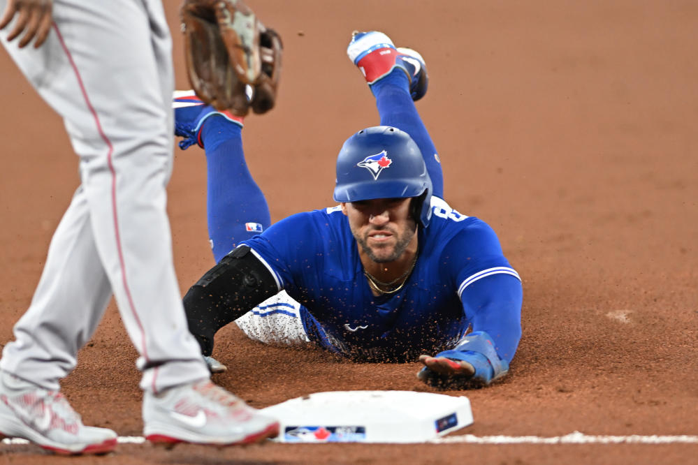
M 398 260 L 416 239 L 411 202 L 412 198 L 379 198 L 342 203 L 351 234 L 368 258 L 377 263 Z

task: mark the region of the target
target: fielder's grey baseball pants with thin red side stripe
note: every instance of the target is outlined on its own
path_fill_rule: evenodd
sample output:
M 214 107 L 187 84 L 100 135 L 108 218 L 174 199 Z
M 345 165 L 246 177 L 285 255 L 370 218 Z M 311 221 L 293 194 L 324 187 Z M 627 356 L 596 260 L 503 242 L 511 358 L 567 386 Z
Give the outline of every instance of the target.
M 160 35 L 152 35 L 157 21 L 149 22 L 143 8 L 135 0 L 56 1 L 54 28 L 43 47 L 8 47 L 41 96 L 64 117 L 80 156 L 79 202 L 73 202 L 67 226 L 54 236 L 57 246 L 50 249 L 42 282 L 15 329 L 17 344 L 8 345 L 12 356 L 2 362 L 4 369 L 21 371 L 45 388 L 57 387 L 58 378 L 73 368 L 77 349 L 91 337 L 106 297 L 85 283 L 102 275 L 141 355 L 143 388 L 208 377 L 187 331 L 165 209 L 172 138 L 162 96 L 171 94 L 172 74 L 158 59 L 170 53 L 169 34 L 162 15 Z M 152 47 L 162 50 L 156 54 Z M 169 77 L 164 90 L 163 72 Z M 78 227 L 83 224 L 89 234 Z M 66 246 L 73 243 L 81 253 Z M 101 273 L 94 270 L 93 251 Z M 55 324 L 45 320 L 49 313 Z M 65 362 L 43 363 L 52 360 Z M 35 362 L 42 369 L 29 369 Z

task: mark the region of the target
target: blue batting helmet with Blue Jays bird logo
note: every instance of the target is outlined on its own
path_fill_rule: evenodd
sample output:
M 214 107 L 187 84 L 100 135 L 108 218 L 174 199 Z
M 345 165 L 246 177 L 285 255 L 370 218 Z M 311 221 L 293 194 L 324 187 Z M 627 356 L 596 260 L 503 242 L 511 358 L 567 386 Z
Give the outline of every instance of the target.
M 365 128 L 344 142 L 337 156 L 334 199 L 417 197 L 415 219 L 428 226 L 432 185 L 421 151 L 405 131 L 391 126 Z

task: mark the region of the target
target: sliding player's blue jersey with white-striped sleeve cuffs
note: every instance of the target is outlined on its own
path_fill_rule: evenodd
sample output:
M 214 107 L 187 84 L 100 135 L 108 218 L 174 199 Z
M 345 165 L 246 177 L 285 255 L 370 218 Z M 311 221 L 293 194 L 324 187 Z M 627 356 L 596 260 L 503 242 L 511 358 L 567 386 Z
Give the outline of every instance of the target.
M 521 334 L 520 300 L 516 308 L 502 309 L 513 317 L 499 318 L 464 308 L 461 297 L 488 276 L 507 276 L 518 288 L 521 280 L 492 228 L 435 200 L 429 226 L 419 228 L 414 270 L 392 295 L 372 294 L 340 207 L 289 216 L 245 244 L 266 263 L 279 288 L 317 320 L 325 345 L 353 360 L 400 362 L 453 348 L 477 320 L 488 327 L 475 330 L 511 339 L 501 341 L 509 353 L 500 353 L 511 360 Z M 307 329 L 311 339 L 319 339 Z

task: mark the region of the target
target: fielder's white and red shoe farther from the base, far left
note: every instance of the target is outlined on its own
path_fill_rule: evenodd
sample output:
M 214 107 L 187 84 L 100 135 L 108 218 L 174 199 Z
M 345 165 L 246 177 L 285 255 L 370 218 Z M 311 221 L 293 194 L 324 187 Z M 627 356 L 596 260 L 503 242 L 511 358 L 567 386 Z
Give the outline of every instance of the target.
M 82 425 L 63 394 L 0 373 L 0 436 L 24 438 L 57 454 L 104 454 L 117 445 L 111 429 Z

